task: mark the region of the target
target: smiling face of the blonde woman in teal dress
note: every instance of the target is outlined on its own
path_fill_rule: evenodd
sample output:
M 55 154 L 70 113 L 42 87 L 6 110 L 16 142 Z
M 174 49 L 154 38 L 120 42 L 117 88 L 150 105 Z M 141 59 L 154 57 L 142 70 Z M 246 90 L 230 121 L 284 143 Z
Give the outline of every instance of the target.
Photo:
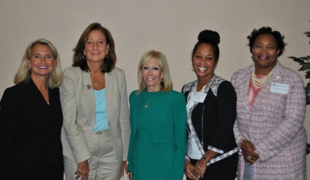
M 160 91 L 160 80 L 164 78 L 164 72 L 154 57 L 143 64 L 141 73 L 148 91 Z

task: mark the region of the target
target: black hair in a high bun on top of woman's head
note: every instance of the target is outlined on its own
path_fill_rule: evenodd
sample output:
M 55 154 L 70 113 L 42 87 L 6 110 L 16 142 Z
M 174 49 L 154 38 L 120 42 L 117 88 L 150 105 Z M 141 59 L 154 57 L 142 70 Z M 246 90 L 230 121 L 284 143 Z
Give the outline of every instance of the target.
M 218 63 L 218 57 L 220 57 L 220 49 L 218 44 L 220 44 L 220 35 L 214 30 L 203 30 L 198 35 L 198 42 L 193 47 L 193 53 L 191 53 L 191 60 L 193 60 L 193 55 L 196 53 L 197 48 L 200 44 L 210 44 L 214 51 L 215 63 Z

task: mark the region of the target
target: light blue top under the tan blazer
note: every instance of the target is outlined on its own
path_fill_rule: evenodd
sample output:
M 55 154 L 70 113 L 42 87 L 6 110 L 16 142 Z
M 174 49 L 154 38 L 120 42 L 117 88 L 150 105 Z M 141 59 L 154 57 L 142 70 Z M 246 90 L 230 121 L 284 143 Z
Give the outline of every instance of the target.
M 107 103 L 105 100 L 105 89 L 99 91 L 94 90 L 96 101 L 96 123 L 94 125 L 94 132 L 107 130 L 109 125 L 107 123 Z

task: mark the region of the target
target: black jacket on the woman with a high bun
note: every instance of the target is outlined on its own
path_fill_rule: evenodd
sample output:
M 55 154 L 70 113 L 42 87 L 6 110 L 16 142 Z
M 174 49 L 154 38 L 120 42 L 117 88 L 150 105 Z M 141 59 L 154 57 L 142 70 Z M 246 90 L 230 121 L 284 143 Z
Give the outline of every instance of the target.
M 188 94 L 189 91 L 184 92 L 185 98 Z M 203 133 L 201 131 L 202 118 Z M 214 95 L 212 89 L 209 89 L 204 102 L 198 103 L 193 109 L 191 120 L 200 141 L 203 134 L 203 149 L 205 151 L 209 145 L 223 150 L 224 153 L 236 148 L 232 129 L 236 120 L 236 92 L 232 84 L 228 81 L 221 82 L 218 86 L 217 96 Z

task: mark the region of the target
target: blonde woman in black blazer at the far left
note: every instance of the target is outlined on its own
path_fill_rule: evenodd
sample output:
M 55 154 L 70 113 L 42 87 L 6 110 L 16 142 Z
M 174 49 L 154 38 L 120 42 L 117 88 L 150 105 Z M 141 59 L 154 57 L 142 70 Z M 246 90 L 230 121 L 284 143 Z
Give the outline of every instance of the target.
M 61 82 L 56 48 L 32 42 L 0 102 L 0 179 L 63 179 Z

